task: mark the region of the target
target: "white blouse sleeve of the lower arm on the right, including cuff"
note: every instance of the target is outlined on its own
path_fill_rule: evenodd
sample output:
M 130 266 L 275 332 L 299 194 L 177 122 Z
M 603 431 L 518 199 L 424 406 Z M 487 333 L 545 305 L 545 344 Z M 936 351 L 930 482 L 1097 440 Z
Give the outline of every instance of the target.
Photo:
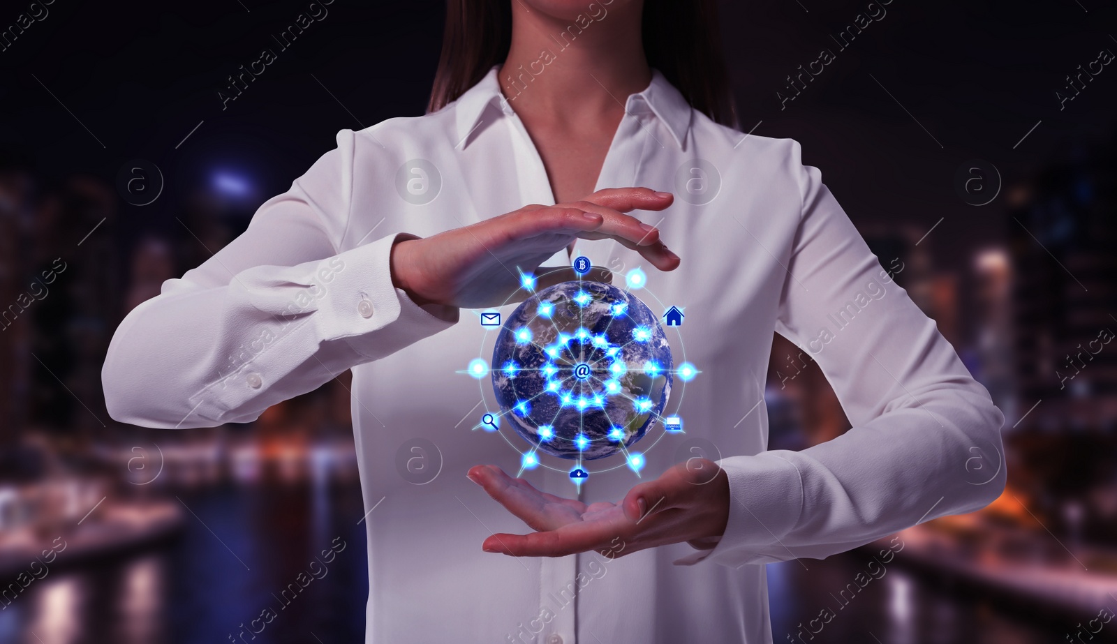
M 695 552 L 727 565 L 823 558 L 1004 489 L 1001 425 L 985 388 L 870 252 L 793 143 L 802 213 L 775 330 L 812 356 L 852 424 L 802 450 L 720 461 L 728 526 Z M 976 460 L 975 460 L 976 459 Z

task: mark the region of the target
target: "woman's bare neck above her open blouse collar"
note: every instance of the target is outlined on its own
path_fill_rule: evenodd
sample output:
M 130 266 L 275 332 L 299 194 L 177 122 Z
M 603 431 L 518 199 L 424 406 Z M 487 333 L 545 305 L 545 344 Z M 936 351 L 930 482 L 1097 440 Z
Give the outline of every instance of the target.
M 588 3 L 560 18 L 513 0 L 512 47 L 499 80 L 516 114 L 525 124 L 619 122 L 628 96 L 651 81 L 642 11 L 642 0 Z

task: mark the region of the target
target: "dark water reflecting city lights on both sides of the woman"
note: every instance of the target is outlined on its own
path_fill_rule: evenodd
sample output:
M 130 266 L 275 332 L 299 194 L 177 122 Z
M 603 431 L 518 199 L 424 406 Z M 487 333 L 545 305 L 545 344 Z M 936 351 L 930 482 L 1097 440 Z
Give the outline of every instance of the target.
M 328 470 L 327 458 L 315 461 L 304 484 L 178 491 L 195 515 L 178 538 L 115 558 L 51 568 L 0 611 L 0 643 L 201 644 L 228 642 L 230 635 L 239 641 L 241 631 L 254 644 L 314 644 L 315 637 L 327 644 L 361 642 L 367 567 L 364 530 L 356 521 L 364 508 L 355 482 L 314 475 Z M 345 549 L 319 575 L 313 561 L 335 538 Z M 1061 640 L 1058 628 L 1046 627 L 1034 615 L 981 594 L 941 587 L 901 565 L 905 555 L 872 567 L 871 580 L 859 590 L 848 589 L 870 569 L 873 556 L 868 551 L 770 565 L 774 641 Z M 303 573 L 315 578 L 292 590 Z M 254 641 L 252 621 L 268 607 L 276 616 Z M 811 626 L 823 609 L 833 617 L 822 628 L 819 622 Z

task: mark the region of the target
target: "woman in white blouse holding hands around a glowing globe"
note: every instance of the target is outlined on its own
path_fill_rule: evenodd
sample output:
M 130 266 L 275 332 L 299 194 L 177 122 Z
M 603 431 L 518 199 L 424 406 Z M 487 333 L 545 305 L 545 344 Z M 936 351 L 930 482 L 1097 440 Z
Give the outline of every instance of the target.
M 341 131 L 136 307 L 104 367 L 113 417 L 246 422 L 352 368 L 378 643 L 770 642 L 763 564 L 992 501 L 1003 470 L 967 465 L 1000 450 L 1000 411 L 799 144 L 728 126 L 713 9 L 451 0 L 433 112 Z M 576 256 L 648 268 L 686 309 L 701 374 L 679 414 L 708 449 L 665 441 L 636 487 L 623 468 L 512 479 L 519 454 L 470 431 L 476 382 L 455 373 L 485 334 L 462 308 L 505 302 L 515 269 L 570 279 Z M 766 450 L 772 329 L 819 362 L 849 432 Z M 416 439 L 437 475 L 397 467 Z

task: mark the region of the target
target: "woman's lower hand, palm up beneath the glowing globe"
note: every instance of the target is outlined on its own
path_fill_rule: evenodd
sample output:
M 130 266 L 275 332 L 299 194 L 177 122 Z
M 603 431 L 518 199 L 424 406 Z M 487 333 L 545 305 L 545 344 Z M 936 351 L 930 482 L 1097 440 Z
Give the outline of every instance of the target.
M 690 459 L 629 490 L 620 503 L 586 506 L 536 490 L 496 465 L 468 477 L 535 532 L 497 534 L 481 549 L 514 557 L 562 557 L 594 550 L 607 557 L 687 541 L 713 548 L 729 516 L 728 477 L 707 459 Z M 618 546 L 618 538 L 623 547 Z

